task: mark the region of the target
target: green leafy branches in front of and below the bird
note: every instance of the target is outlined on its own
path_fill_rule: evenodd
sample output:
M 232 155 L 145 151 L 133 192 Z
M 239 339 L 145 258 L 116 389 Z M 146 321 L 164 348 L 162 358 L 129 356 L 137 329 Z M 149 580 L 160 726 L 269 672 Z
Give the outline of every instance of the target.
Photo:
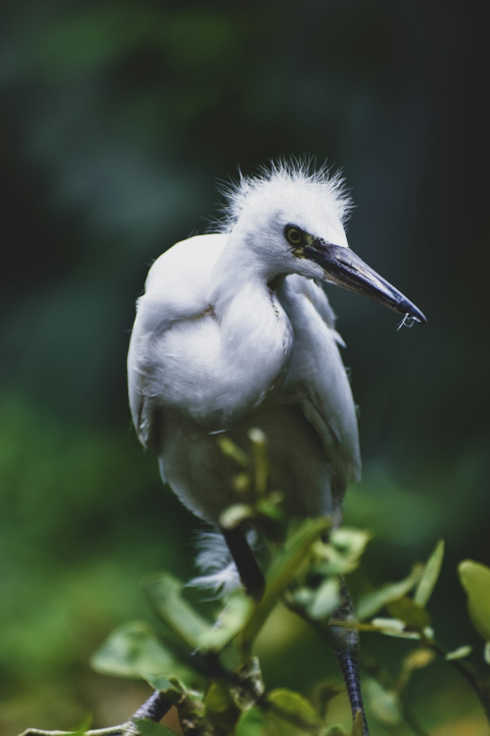
M 93 668 L 148 682 L 161 693 L 167 707 L 176 707 L 185 736 L 345 736 L 344 726 L 329 718 L 336 690 L 325 684 L 321 694 L 307 698 L 287 687 L 269 689 L 264 682 L 253 648 L 259 631 L 281 601 L 326 641 L 331 626 L 343 626 L 416 643 L 403 656 L 394 679 L 377 663 L 364 665 L 370 674 L 364 683 L 370 717 L 388 732 L 395 733 L 405 723 L 414 733 L 425 734 L 408 704 L 406 686 L 417 670 L 431 665 L 436 657 L 460 670 L 490 720 L 490 679 L 483 679 L 462 661 L 471 652 L 469 646 L 447 651 L 439 644 L 427 609 L 442 568 L 444 543 L 439 541 L 427 562 L 415 565 L 402 581 L 364 592 L 357 601 L 355 619 L 336 618 L 343 576 L 359 566 L 370 534 L 353 528 L 331 529 L 327 517 L 287 523 L 281 494 L 267 489 L 267 442 L 256 431 L 251 431 L 250 437 L 251 459 L 228 440 L 222 444 L 223 451 L 237 461 L 241 476 L 248 475 L 245 486 L 249 491 L 248 505 L 227 509 L 222 521 L 235 526 L 242 518 L 253 518 L 267 539 L 271 559 L 262 600 L 235 590 L 228 594 L 224 606 L 217 602 L 217 613 L 211 620 L 186 600 L 184 587 L 176 578 L 154 573 L 145 579 L 143 589 L 159 619 L 159 631 L 144 622 L 118 627 L 94 654 Z M 486 640 L 488 659 L 490 569 L 465 561 L 459 572 L 468 594 L 469 614 Z M 389 618 L 378 616 L 383 609 Z M 362 732 L 358 713 L 350 736 L 361 736 Z M 87 733 L 166 736 L 173 731 L 136 715 L 113 729 Z

